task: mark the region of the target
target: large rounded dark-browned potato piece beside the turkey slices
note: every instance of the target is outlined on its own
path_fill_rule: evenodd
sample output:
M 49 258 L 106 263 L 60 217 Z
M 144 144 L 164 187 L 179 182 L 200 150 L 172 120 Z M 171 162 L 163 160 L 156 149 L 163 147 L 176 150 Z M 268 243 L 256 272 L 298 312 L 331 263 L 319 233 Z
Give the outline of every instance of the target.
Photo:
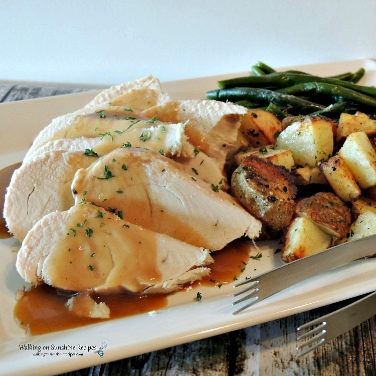
M 296 186 L 286 168 L 254 155 L 245 157 L 232 174 L 231 191 L 249 213 L 272 229 L 288 226 Z

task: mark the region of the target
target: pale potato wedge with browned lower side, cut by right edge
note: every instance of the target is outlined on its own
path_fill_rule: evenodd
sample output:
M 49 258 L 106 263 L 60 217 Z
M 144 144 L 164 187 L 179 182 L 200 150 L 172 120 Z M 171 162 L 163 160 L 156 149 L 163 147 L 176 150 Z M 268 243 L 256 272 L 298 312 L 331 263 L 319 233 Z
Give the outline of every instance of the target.
M 376 151 L 365 132 L 351 133 L 338 154 L 363 189 L 376 185 Z

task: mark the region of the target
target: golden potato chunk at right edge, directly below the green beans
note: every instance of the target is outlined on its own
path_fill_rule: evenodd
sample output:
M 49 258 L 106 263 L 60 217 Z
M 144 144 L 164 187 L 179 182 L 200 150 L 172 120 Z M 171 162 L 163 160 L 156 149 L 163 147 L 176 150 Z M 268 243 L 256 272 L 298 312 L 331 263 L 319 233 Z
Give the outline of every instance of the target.
M 343 141 L 353 132 L 363 131 L 368 137 L 376 135 L 376 120 L 357 111 L 354 115 L 342 113 L 339 117 L 336 142 Z

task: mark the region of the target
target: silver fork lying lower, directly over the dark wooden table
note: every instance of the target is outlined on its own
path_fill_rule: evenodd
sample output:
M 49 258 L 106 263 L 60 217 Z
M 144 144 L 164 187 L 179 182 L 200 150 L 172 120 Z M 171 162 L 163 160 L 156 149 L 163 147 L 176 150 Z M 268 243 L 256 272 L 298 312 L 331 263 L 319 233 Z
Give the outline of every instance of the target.
M 298 351 L 296 358 L 307 354 L 375 315 L 375 305 L 376 291 L 343 308 L 298 326 L 296 328 L 298 333 L 301 330 L 314 327 L 297 336 L 297 341 L 304 339 L 305 342 L 296 347 Z

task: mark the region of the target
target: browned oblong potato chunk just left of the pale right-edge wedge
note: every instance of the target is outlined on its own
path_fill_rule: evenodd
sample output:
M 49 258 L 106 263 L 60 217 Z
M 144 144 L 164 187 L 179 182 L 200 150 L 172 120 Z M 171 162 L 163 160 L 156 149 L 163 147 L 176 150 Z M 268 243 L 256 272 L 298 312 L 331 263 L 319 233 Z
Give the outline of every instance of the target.
M 360 197 L 361 191 L 354 176 L 338 154 L 323 161 L 319 168 L 342 201 L 347 202 Z

